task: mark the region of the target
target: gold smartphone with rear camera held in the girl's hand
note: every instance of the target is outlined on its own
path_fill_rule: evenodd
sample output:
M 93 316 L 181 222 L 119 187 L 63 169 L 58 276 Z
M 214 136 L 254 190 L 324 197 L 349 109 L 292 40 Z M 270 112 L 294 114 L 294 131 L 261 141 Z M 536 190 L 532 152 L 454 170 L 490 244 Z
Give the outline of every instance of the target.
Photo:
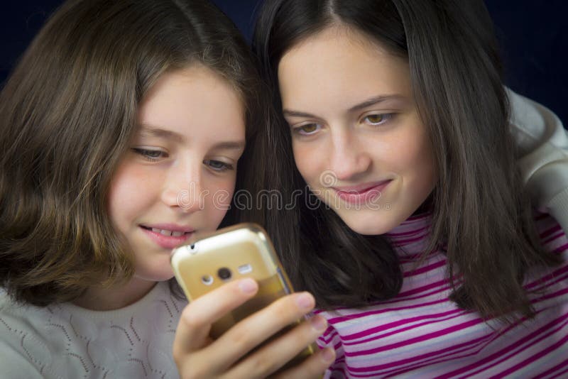
M 190 301 L 231 280 L 253 278 L 258 282 L 258 292 L 251 300 L 212 325 L 209 334 L 213 339 L 219 338 L 250 314 L 293 292 L 268 234 L 256 224 L 237 224 L 207 236 L 197 236 L 187 245 L 174 249 L 171 263 L 175 278 Z M 300 320 L 297 320 L 264 344 L 299 323 Z M 283 368 L 295 366 L 314 353 L 315 349 L 317 346 L 310 344 Z

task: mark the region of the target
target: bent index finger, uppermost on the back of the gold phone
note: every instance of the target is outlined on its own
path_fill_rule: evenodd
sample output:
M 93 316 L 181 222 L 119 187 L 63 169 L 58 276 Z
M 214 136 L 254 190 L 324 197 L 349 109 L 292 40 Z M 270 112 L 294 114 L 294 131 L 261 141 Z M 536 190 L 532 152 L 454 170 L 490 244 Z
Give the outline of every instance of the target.
M 211 325 L 249 300 L 257 291 L 258 284 L 246 278 L 229 282 L 190 302 L 183 310 L 175 332 L 174 355 L 180 356 L 202 348 L 209 341 Z

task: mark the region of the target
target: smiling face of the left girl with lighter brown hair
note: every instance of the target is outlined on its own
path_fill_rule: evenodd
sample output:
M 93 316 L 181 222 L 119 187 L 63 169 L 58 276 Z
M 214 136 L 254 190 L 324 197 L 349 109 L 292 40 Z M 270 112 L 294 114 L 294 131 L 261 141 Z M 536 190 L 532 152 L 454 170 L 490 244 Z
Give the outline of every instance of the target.
M 239 95 L 206 67 L 165 73 L 146 94 L 109 192 L 112 224 L 135 256 L 134 281 L 172 278 L 172 248 L 217 229 L 234 192 L 244 122 Z

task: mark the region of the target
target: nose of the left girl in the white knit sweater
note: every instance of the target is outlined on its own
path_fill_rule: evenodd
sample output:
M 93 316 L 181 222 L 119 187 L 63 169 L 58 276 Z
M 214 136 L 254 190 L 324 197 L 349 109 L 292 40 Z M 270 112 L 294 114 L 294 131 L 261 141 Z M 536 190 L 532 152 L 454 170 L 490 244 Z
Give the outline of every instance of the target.
M 168 207 L 193 213 L 204 207 L 202 188 L 202 162 L 200 160 L 176 160 L 168 168 L 163 183 L 162 201 Z

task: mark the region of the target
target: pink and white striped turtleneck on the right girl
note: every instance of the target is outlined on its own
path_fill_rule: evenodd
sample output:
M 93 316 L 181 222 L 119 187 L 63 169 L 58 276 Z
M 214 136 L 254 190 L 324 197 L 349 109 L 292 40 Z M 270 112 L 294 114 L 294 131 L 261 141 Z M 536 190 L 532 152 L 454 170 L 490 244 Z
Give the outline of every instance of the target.
M 430 215 L 413 216 L 388 235 L 404 275 L 398 296 L 364 309 L 320 312 L 329 328 L 318 344 L 337 353 L 326 378 L 568 378 L 568 238 L 550 216 L 535 220 L 545 248 L 564 263 L 525 281 L 537 290 L 530 295 L 534 319 L 484 322 L 459 309 L 448 298 L 442 251 L 416 265 Z

